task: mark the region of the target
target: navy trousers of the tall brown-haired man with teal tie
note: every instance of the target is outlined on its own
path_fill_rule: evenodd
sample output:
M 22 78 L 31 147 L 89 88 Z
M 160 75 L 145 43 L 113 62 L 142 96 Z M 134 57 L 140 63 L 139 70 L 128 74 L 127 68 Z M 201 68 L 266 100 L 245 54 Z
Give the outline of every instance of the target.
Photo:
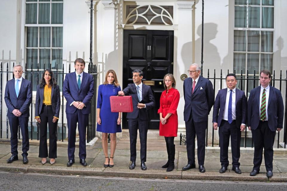
M 83 114 L 80 110 L 75 113 L 66 113 L 68 124 L 68 157 L 69 160 L 75 158 L 76 129 L 78 123 L 79 131 L 79 158 L 86 159 L 86 128 L 89 114 Z

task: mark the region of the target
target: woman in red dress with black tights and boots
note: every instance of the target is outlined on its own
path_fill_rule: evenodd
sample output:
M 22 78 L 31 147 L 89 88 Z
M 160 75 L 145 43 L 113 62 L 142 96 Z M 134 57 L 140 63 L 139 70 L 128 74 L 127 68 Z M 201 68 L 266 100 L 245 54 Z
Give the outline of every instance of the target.
M 172 74 L 164 76 L 164 88 L 161 93 L 160 107 L 158 110 L 160 120 L 159 135 L 164 136 L 167 144 L 168 161 L 161 168 L 167 168 L 167 172 L 174 169 L 175 144 L 174 137 L 177 136 L 178 117 L 177 106 L 179 102 L 179 92 L 175 89 L 175 79 Z

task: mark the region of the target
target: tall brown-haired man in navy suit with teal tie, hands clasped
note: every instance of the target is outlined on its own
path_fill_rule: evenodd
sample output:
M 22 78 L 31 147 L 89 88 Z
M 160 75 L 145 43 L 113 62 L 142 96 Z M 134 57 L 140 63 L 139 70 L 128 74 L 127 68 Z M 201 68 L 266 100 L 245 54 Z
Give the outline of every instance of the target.
M 86 127 L 91 112 L 91 98 L 94 95 L 94 78 L 84 72 L 85 61 L 77 58 L 74 62 L 75 72 L 66 74 L 63 94 L 67 100 L 66 116 L 68 125 L 68 157 L 67 167 L 75 162 L 75 140 L 78 123 L 79 158 L 83 166 L 86 163 Z

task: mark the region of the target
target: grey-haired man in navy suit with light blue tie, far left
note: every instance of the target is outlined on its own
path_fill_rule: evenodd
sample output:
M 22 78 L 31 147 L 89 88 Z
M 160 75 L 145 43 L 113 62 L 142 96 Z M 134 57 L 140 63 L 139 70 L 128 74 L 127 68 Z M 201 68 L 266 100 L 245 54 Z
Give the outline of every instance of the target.
M 32 101 L 32 85 L 31 82 L 22 77 L 23 67 L 21 64 L 16 64 L 13 67 L 14 77 L 7 81 L 5 88 L 5 103 L 8 108 L 7 117 L 10 125 L 10 142 L 12 156 L 7 160 L 7 163 L 18 160 L 18 126 L 20 125 L 22 134 L 22 156 L 23 163 L 27 164 L 29 150 L 29 106 Z

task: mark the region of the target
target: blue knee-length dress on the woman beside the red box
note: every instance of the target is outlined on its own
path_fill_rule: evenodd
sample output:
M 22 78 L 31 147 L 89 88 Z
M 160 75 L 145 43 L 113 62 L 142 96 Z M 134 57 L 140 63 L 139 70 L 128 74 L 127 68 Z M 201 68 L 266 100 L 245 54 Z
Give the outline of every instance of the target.
M 100 108 L 101 124 L 97 124 L 97 131 L 102 133 L 122 132 L 117 124 L 119 113 L 111 112 L 110 96 L 116 96 L 120 91 L 120 86 L 114 84 L 101 84 L 98 89 L 97 108 Z

